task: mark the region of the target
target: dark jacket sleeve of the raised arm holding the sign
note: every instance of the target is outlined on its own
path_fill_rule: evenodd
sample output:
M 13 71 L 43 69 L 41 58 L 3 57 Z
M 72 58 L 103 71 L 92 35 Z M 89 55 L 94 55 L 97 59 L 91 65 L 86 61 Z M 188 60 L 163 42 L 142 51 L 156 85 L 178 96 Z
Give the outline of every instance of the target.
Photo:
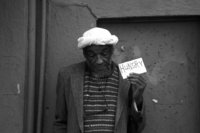
M 135 129 L 135 131 L 137 133 L 141 133 L 146 125 L 146 114 L 145 114 L 145 103 L 144 100 L 142 101 L 142 105 L 141 105 L 141 109 L 139 110 L 137 108 L 137 105 L 134 101 L 134 99 L 132 98 L 132 94 L 133 94 L 134 89 L 130 89 L 129 92 L 129 107 L 130 107 L 130 114 L 129 114 L 129 126 L 133 126 Z M 129 127 L 130 128 L 130 127 Z M 133 130 L 133 129 L 132 129 Z M 133 131 L 134 132 L 134 131 Z M 131 133 L 131 132 L 130 132 Z

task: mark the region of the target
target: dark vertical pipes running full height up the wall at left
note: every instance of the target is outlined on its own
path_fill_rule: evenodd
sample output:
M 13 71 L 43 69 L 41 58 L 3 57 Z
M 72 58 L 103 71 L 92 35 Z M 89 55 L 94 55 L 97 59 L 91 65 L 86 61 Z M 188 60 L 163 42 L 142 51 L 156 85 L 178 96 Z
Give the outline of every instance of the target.
M 28 57 L 24 94 L 23 133 L 41 133 L 48 0 L 28 1 Z

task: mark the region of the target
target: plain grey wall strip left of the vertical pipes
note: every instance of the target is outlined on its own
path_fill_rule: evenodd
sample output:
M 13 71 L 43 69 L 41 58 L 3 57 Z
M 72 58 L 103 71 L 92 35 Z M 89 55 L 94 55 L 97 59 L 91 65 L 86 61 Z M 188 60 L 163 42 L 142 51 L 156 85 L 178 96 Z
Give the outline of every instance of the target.
M 0 132 L 22 133 L 27 1 L 0 1 Z

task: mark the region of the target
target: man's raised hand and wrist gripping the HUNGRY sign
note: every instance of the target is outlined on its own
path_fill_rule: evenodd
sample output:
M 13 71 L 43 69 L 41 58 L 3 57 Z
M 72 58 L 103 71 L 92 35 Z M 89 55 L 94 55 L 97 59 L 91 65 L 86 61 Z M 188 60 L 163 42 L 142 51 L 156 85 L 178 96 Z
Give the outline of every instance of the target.
M 135 86 L 137 89 L 133 93 L 133 99 L 137 105 L 142 103 L 142 95 L 146 88 L 146 80 L 140 74 L 131 73 L 127 80 L 131 83 L 132 86 Z

